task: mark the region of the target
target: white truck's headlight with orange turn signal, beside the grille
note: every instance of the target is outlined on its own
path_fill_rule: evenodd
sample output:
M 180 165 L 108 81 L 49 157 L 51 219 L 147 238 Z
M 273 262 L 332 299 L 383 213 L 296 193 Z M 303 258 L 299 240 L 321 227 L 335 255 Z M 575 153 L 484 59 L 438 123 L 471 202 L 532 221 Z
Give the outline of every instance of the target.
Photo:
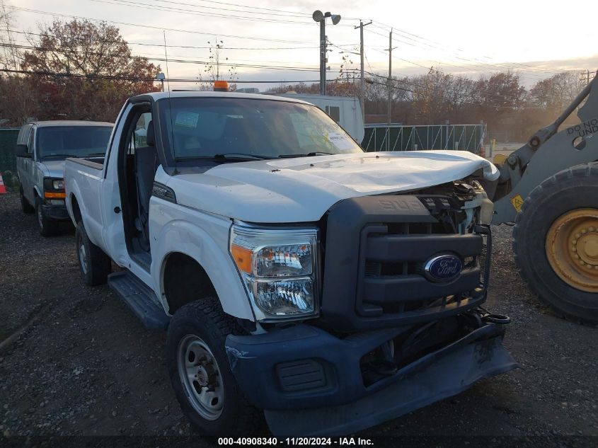
M 235 224 L 230 252 L 259 320 L 318 314 L 318 229 Z

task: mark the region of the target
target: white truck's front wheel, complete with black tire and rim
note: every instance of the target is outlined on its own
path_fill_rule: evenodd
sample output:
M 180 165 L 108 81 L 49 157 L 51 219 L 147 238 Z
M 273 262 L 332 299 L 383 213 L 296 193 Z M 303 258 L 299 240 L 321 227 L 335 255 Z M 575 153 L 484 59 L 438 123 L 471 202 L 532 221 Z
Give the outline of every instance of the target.
M 166 365 L 180 408 L 202 435 L 252 435 L 263 414 L 248 403 L 231 372 L 226 335 L 242 334 L 217 297 L 182 306 L 171 319 Z

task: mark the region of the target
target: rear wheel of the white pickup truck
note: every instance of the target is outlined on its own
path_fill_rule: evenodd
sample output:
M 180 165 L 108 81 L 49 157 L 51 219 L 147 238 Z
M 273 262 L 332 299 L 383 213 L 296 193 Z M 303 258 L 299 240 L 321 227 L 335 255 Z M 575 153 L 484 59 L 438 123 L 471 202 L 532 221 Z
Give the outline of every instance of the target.
M 79 221 L 76 226 L 75 249 L 85 284 L 88 286 L 105 284 L 112 270 L 112 260 L 102 249 L 89 241 L 82 221 Z

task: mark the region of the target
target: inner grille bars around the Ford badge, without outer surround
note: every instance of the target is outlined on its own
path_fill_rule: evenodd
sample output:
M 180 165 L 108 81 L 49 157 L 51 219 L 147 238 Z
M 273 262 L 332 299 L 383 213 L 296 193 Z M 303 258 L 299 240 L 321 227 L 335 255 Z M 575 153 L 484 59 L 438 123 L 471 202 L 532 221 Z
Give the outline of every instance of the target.
M 432 224 L 368 224 L 360 234 L 360 271 L 356 306 L 360 316 L 395 314 L 425 321 L 438 313 L 459 312 L 483 300 L 488 284 L 485 234 L 435 234 Z M 461 259 L 461 275 L 451 282 L 432 282 L 424 265 L 435 255 Z

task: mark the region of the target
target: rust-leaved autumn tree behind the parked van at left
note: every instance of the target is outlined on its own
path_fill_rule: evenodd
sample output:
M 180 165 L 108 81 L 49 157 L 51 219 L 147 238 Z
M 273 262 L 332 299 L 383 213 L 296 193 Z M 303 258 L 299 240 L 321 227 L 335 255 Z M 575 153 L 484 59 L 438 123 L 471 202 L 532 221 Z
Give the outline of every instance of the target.
M 113 121 L 128 97 L 160 90 L 160 67 L 134 57 L 113 25 L 54 20 L 39 31 L 28 36 L 35 49 L 23 54 L 22 68 L 34 73 L 40 119 Z

